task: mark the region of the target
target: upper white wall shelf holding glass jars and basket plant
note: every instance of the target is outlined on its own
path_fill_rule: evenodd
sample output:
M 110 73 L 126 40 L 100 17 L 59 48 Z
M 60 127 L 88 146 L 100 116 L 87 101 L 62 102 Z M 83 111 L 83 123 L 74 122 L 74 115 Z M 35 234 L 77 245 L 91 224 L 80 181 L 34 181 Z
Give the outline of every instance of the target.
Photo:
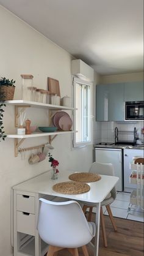
M 44 103 L 32 102 L 32 101 L 28 101 L 28 100 L 6 100 L 5 104 L 10 104 L 13 106 L 23 105 L 23 107 L 31 105 L 31 107 L 48 108 L 50 110 L 76 110 L 76 108 L 52 105 L 52 104 L 44 104 Z

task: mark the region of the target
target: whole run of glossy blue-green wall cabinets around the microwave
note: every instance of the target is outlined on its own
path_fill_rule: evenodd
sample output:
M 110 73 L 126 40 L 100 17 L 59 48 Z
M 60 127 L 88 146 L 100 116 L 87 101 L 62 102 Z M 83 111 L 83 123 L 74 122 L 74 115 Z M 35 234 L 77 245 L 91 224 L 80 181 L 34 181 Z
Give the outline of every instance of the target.
M 143 97 L 143 81 L 97 85 L 96 121 L 124 121 L 124 102 Z

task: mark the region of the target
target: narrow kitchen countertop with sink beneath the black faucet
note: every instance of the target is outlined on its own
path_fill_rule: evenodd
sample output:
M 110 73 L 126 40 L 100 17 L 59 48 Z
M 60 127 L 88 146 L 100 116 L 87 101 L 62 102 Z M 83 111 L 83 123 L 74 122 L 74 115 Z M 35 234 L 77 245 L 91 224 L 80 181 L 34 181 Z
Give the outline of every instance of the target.
M 119 148 L 119 149 L 144 149 L 143 144 L 137 144 L 135 146 L 131 145 L 99 145 L 99 144 L 94 144 L 94 148 Z

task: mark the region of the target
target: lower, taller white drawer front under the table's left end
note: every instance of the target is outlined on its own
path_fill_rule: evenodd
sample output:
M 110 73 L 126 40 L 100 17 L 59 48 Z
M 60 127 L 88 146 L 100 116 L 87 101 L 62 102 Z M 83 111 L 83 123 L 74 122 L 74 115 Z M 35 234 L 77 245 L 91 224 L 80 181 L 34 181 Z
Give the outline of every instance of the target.
M 17 211 L 17 231 L 35 236 L 35 214 Z

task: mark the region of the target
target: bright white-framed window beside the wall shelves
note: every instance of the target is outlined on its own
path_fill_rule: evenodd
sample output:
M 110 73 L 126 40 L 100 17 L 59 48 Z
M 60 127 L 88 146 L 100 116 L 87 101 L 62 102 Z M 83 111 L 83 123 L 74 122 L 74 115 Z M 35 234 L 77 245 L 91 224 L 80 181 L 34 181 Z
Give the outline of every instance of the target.
M 74 133 L 73 146 L 84 146 L 91 143 L 91 89 L 92 83 L 78 78 L 73 80 Z

